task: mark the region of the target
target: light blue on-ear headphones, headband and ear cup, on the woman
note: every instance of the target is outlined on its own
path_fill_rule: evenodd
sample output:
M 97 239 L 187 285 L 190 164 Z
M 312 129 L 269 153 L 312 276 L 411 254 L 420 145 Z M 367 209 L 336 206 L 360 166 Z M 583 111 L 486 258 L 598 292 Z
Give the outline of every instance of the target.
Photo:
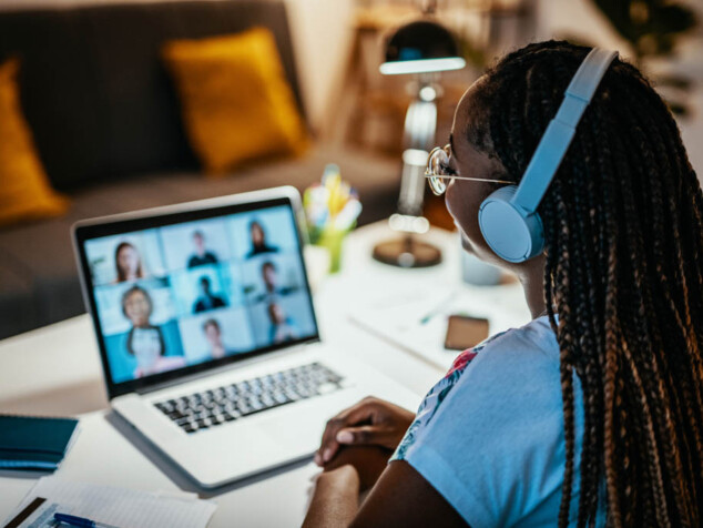
M 615 57 L 617 51 L 591 50 L 571 79 L 557 116 L 547 126 L 520 184 L 501 187 L 481 203 L 478 222 L 483 238 L 505 261 L 524 262 L 544 248 L 544 229 L 537 207 Z

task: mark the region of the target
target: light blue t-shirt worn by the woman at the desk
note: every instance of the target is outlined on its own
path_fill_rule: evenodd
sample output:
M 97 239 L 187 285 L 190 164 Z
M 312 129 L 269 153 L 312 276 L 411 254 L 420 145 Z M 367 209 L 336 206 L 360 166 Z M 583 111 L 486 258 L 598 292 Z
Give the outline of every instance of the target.
M 583 433 L 574 375 L 579 499 Z M 427 394 L 391 457 L 406 460 L 471 528 L 557 526 L 566 441 L 559 345 L 547 316 L 461 353 Z M 597 526 L 604 526 L 599 502 Z

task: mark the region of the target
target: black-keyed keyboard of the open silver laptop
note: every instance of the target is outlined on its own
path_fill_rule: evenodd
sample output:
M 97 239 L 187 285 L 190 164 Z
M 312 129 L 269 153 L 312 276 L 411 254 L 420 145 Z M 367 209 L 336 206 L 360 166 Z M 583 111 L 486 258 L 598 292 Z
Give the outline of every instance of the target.
M 343 377 L 319 363 L 159 402 L 154 406 L 192 434 L 262 410 L 342 388 Z

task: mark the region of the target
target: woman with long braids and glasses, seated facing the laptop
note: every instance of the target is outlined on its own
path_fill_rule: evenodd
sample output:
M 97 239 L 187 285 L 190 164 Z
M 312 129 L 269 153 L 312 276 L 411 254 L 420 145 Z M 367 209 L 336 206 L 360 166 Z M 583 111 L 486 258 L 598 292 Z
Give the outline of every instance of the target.
M 518 182 L 588 51 L 503 58 L 461 99 L 445 173 Z M 452 180 L 447 207 L 534 319 L 459 355 L 417 416 L 368 399 L 333 418 L 306 526 L 703 525 L 703 196 L 671 113 L 613 61 L 521 264 L 479 229 L 498 186 Z

